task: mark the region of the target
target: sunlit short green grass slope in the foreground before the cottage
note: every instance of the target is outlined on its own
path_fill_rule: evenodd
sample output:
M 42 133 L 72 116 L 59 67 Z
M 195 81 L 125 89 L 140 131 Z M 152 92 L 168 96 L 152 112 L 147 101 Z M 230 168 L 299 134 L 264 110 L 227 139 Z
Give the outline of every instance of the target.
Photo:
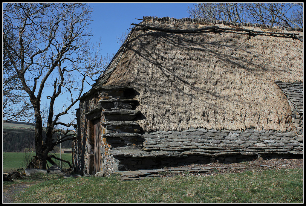
M 303 203 L 303 169 L 141 181 L 49 178 L 16 198 L 23 203 Z

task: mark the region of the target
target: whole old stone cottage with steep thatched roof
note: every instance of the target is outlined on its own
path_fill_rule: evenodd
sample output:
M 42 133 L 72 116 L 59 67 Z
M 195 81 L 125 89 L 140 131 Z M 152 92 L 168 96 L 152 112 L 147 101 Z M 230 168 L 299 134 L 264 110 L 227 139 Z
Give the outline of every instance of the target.
M 144 17 L 80 98 L 73 170 L 303 154 L 303 30 Z

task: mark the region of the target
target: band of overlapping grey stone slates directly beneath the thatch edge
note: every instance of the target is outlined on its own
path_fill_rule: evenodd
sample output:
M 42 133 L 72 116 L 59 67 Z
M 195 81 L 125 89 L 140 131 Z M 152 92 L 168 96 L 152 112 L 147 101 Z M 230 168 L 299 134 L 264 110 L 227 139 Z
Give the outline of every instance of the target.
M 286 133 L 270 130 L 245 131 L 188 129 L 181 132 L 152 132 L 143 135 L 144 150 L 197 150 L 244 148 L 263 154 L 266 151 L 295 153 L 303 150 L 303 138 L 295 131 Z M 216 152 L 216 151 L 215 151 Z M 211 153 L 211 152 L 210 152 Z

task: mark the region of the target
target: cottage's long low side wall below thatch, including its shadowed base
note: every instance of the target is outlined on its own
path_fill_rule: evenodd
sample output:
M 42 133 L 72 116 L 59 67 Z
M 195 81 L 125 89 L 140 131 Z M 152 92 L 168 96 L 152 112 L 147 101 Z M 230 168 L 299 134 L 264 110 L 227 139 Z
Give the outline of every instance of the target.
M 256 157 L 303 155 L 303 137 L 296 132 L 188 129 L 141 134 L 143 148 L 113 148 L 119 171 L 174 167 L 218 161 L 233 163 Z M 117 144 L 120 140 L 117 140 Z

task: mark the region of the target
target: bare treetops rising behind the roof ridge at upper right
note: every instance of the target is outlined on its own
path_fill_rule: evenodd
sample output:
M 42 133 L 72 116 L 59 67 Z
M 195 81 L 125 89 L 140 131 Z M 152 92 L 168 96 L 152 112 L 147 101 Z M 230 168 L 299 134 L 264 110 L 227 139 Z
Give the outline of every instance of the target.
M 303 3 L 198 3 L 187 12 L 192 18 L 303 27 Z

